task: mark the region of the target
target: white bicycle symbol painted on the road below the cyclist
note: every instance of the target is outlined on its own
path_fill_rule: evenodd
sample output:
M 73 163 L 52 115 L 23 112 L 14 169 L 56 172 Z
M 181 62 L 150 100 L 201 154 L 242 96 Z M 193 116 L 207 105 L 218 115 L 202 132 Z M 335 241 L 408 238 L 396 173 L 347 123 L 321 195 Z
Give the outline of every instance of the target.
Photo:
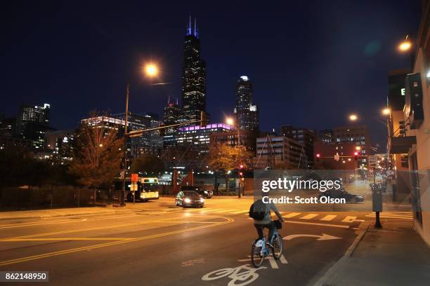
M 259 273 L 256 273 L 256 271 L 265 268 L 267 267 L 260 266 L 259 268 L 254 268 L 250 264 L 244 264 L 236 268 L 223 268 L 209 272 L 203 275 L 202 280 L 210 281 L 227 276 L 231 279 L 230 282 L 228 282 L 228 286 L 244 286 L 259 278 Z

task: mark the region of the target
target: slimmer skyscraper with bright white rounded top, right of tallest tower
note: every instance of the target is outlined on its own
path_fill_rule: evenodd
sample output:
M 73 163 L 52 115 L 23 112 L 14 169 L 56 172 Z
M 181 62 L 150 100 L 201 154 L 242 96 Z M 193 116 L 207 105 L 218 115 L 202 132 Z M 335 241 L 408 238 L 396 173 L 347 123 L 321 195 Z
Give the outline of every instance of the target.
M 252 82 L 247 76 L 240 76 L 237 81 L 235 114 L 238 128 L 259 129 L 259 111 L 252 102 Z

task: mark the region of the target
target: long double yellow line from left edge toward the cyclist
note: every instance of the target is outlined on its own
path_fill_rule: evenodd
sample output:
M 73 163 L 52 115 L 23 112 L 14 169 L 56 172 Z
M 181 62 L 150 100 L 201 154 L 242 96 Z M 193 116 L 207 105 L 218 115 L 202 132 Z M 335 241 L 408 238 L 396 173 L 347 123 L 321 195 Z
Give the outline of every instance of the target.
M 36 259 L 41 259 L 41 258 L 46 258 L 46 257 L 55 257 L 55 256 L 63 255 L 63 254 L 80 252 L 80 251 L 84 251 L 84 250 L 94 250 L 94 249 L 97 249 L 100 247 L 107 247 L 107 246 L 112 246 L 112 245 L 131 243 L 131 242 L 140 241 L 140 240 L 147 240 L 150 238 L 159 238 L 162 236 L 170 236 L 170 235 L 177 234 L 177 233 L 185 233 L 185 232 L 189 232 L 189 231 L 196 231 L 199 229 L 207 229 L 209 227 L 221 226 L 223 224 L 230 224 L 231 222 L 234 222 L 234 220 L 231 219 L 230 217 L 223 217 L 223 218 L 226 219 L 226 222 L 216 222 L 214 224 L 209 224 L 209 225 L 204 225 L 204 226 L 196 226 L 196 227 L 193 227 L 190 229 L 182 229 L 182 230 L 178 230 L 178 231 L 169 231 L 169 232 L 165 232 L 165 233 L 157 233 L 157 234 L 152 234 L 150 236 L 141 236 L 138 238 L 131 238 L 129 240 L 112 241 L 110 243 L 101 243 L 98 245 L 90 245 L 90 246 L 85 246 L 85 247 L 72 248 L 70 250 L 60 250 L 60 251 L 56 251 L 56 252 L 48 252 L 48 253 L 44 253 L 44 254 L 32 255 L 30 257 L 21 257 L 21 258 L 17 258 L 17 259 L 4 260 L 4 261 L 0 261 L 0 266 L 17 264 L 17 263 L 24 262 L 24 261 L 31 261 L 31 260 L 36 260 Z

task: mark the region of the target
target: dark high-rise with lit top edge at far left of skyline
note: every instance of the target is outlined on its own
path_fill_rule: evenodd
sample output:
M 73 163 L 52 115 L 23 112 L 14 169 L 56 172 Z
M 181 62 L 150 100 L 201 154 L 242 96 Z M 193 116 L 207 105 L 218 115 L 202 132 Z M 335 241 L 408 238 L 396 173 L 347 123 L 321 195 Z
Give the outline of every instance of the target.
M 51 106 L 21 104 L 16 120 L 16 135 L 24 139 L 31 139 L 33 147 L 39 149 L 45 145 L 45 133 L 49 127 Z

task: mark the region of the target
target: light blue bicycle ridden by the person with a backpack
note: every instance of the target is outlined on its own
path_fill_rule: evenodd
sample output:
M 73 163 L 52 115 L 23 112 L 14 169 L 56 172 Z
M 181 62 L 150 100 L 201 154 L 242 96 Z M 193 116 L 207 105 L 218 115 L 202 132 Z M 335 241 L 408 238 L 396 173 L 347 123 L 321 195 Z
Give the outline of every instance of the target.
M 264 258 L 268 255 L 273 254 L 273 258 L 280 259 L 282 255 L 282 250 L 284 249 L 284 244 L 282 240 L 282 236 L 278 233 L 278 229 L 280 229 L 280 223 L 275 224 L 276 229 L 273 232 L 272 238 L 269 242 L 266 242 L 266 236 L 261 239 L 256 239 L 254 243 L 252 243 L 251 247 L 251 262 L 252 265 L 256 268 L 259 268 L 261 264 L 263 264 Z

